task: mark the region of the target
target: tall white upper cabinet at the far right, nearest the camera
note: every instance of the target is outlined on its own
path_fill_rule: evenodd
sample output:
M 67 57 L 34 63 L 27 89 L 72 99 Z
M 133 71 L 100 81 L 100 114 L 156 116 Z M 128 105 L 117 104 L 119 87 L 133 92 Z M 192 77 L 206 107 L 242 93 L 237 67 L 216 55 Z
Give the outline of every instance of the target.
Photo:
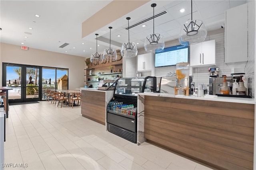
M 248 61 L 248 4 L 226 10 L 225 63 L 244 68 Z

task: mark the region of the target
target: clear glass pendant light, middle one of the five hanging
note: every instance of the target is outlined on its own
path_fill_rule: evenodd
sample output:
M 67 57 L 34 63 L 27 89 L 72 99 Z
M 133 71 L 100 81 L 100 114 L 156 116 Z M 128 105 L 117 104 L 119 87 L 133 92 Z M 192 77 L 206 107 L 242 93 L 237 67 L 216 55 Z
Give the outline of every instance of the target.
M 131 19 L 130 17 L 126 18 L 126 20 L 128 20 L 128 43 L 122 44 L 121 55 L 123 57 L 135 57 L 138 53 L 136 44 L 134 42 L 130 42 L 130 32 L 129 32 L 129 20 L 130 19 Z

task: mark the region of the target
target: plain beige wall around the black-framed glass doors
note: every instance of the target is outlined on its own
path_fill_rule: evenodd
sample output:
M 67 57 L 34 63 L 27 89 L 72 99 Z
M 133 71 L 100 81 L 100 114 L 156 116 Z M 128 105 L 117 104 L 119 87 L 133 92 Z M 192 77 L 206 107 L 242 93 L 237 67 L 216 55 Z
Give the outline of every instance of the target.
M 1 43 L 0 45 L 1 68 L 3 62 L 66 68 L 69 69 L 68 88 L 74 90 L 79 87 L 84 87 L 85 57 L 44 51 L 30 47 L 28 47 L 28 50 L 22 50 L 18 45 L 7 43 Z M 2 69 L 0 69 L 0 77 L 2 79 Z M 2 86 L 2 80 L 0 84 Z

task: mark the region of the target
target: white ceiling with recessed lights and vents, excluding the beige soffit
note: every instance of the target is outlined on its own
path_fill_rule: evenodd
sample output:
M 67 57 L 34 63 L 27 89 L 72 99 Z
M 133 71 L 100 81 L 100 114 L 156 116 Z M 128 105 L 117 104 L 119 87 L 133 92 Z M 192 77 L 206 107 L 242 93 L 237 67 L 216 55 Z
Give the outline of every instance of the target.
M 155 14 L 164 10 L 167 12 L 154 19 L 154 32 L 162 34 L 165 42 L 178 39 L 180 28 L 191 19 L 190 0 L 152 0 L 82 38 L 82 22 L 110 2 L 111 0 L 0 0 L 0 40 L 3 43 L 88 58 L 91 53 L 96 52 L 96 33 L 99 34 L 98 52 L 109 47 L 109 26 L 113 27 L 111 47 L 121 49 L 122 43 L 128 42 L 126 17 L 131 18 L 131 26 L 153 16 L 153 8 L 150 6 L 152 3 L 157 4 Z M 246 0 L 193 0 L 193 19 L 203 20 L 208 31 L 217 30 L 225 22 L 225 10 L 244 3 Z M 182 8 L 185 12 L 180 13 Z M 97 22 L 100 22 L 100 18 Z M 143 28 L 143 24 L 146 27 Z M 153 33 L 153 20 L 143 24 L 130 28 L 130 42 L 139 43 L 138 48 L 143 48 L 146 36 Z M 33 29 L 29 30 L 29 27 Z M 30 32 L 31 35 L 25 32 Z M 69 45 L 59 48 L 64 43 Z

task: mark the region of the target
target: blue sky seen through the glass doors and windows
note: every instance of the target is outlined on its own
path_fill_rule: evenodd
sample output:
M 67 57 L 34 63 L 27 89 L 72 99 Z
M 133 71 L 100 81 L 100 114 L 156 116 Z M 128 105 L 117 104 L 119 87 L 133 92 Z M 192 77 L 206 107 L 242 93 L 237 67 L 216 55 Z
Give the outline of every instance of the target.
M 18 74 L 13 70 L 16 69 L 18 67 L 12 67 L 12 66 L 7 66 L 6 67 L 6 80 L 12 80 L 12 79 L 18 79 L 19 76 Z M 54 81 L 55 79 L 55 69 L 42 69 L 42 78 L 44 79 L 52 79 L 52 81 Z M 64 70 L 59 70 L 57 69 L 57 79 L 62 77 L 63 75 L 67 75 L 67 71 Z M 27 77 L 28 79 L 28 77 Z

